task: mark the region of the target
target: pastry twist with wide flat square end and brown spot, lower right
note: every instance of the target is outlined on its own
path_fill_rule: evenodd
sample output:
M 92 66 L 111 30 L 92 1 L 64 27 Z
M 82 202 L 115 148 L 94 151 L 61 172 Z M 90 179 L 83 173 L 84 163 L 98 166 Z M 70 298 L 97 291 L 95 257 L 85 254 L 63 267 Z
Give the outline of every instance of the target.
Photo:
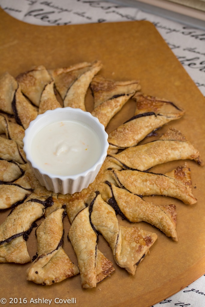
M 109 243 L 116 263 L 134 275 L 137 264 L 148 253 L 157 235 L 137 227 L 121 226 L 114 209 L 102 199 L 99 192 L 96 192 L 89 210 L 95 229 Z

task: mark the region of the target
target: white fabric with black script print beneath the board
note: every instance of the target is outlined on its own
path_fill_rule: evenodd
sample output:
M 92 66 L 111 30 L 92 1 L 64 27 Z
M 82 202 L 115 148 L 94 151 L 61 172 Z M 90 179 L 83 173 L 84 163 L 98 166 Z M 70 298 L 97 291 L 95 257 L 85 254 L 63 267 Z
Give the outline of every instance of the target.
M 205 95 L 205 32 L 201 29 L 109 1 L 0 0 L 0 6 L 14 18 L 35 25 L 151 21 L 199 90 Z M 175 295 L 154 305 L 154 307 L 162 306 L 204 307 L 205 275 Z

